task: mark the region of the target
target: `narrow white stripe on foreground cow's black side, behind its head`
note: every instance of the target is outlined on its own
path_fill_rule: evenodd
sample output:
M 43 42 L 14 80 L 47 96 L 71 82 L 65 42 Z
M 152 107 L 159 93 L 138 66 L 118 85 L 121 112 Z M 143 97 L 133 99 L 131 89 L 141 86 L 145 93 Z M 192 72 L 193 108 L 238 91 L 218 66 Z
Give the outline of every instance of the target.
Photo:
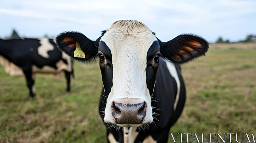
M 180 79 L 179 79 L 179 76 L 178 76 L 178 73 L 177 73 L 177 70 L 174 66 L 174 64 L 168 62 L 168 61 L 165 61 L 166 63 L 166 66 L 170 72 L 170 74 L 172 75 L 172 77 L 175 79 L 176 83 L 177 83 L 177 94 L 176 94 L 176 99 L 175 99 L 175 102 L 174 102 L 174 105 L 173 105 L 173 108 L 174 108 L 174 111 L 176 110 L 176 107 L 177 107 L 177 103 L 179 101 L 179 98 L 180 98 Z

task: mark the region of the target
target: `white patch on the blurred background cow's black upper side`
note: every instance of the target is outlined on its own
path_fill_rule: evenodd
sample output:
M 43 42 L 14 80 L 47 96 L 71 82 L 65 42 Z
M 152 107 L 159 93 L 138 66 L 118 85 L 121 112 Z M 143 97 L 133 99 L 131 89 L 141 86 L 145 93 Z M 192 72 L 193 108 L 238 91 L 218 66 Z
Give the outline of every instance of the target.
M 44 57 L 44 58 L 49 58 L 50 56 L 48 55 L 48 51 L 52 51 L 54 49 L 54 46 L 50 43 L 48 38 L 41 38 L 39 39 L 39 43 L 41 44 L 37 51 L 38 55 Z

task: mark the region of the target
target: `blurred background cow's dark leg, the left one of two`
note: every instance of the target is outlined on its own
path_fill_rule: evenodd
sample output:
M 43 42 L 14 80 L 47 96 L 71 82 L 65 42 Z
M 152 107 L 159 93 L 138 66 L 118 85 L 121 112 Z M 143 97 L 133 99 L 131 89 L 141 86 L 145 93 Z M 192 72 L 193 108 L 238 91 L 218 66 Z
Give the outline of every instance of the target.
M 35 88 L 35 75 L 32 75 L 32 69 L 23 69 L 23 72 L 25 74 L 26 80 L 27 80 L 27 86 L 29 89 L 29 97 L 34 98 L 36 95 L 36 88 Z

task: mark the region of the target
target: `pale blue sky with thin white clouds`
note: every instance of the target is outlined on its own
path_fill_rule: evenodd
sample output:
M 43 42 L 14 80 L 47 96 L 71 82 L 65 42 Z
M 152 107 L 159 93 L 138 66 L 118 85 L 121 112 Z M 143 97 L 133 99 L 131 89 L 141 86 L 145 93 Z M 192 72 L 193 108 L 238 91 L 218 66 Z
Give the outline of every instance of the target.
M 117 20 L 138 20 L 169 41 L 194 33 L 215 42 L 256 35 L 256 0 L 0 0 L 0 37 L 79 31 L 91 40 Z

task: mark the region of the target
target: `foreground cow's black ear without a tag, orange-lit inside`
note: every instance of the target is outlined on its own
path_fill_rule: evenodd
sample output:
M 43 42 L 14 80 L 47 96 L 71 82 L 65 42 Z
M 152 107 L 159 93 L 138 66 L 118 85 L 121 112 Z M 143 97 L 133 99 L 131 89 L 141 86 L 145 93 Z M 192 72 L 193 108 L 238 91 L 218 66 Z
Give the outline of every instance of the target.
M 187 63 L 197 57 L 205 56 L 208 42 L 195 34 L 181 34 L 168 42 L 158 39 L 161 54 L 176 64 Z

